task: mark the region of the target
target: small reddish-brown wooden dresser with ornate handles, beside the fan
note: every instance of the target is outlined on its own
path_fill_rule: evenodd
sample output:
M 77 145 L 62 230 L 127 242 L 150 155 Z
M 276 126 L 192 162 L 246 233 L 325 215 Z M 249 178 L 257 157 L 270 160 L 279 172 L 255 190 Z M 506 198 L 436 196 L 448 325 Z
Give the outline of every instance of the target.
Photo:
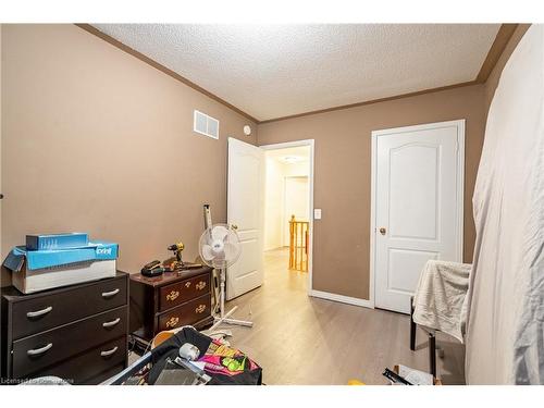
M 131 333 L 135 339 L 149 343 L 163 330 L 211 324 L 211 272 L 203 267 L 156 277 L 132 274 Z

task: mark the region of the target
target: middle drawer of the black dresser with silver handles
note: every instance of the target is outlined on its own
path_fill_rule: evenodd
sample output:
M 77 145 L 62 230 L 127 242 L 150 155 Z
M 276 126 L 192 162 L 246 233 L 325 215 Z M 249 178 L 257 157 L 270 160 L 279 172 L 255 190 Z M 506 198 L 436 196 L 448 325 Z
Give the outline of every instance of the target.
M 126 335 L 126 306 L 13 342 L 12 375 L 22 378 Z

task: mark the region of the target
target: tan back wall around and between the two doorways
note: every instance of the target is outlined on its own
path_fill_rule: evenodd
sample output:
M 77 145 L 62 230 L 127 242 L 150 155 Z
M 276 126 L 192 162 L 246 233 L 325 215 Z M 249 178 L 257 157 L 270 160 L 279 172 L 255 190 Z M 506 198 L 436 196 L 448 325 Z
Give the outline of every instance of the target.
M 484 134 L 484 86 L 473 85 L 258 126 L 258 144 L 314 139 L 313 289 L 368 299 L 371 132 L 467 120 L 465 250 L 474 244 L 472 190 Z

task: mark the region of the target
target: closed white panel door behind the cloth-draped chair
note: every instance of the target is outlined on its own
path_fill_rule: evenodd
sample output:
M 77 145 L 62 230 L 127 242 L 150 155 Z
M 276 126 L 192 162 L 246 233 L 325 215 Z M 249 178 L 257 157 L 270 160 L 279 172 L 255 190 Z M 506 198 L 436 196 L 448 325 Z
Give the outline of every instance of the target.
M 408 313 L 425 262 L 462 258 L 465 121 L 372 138 L 375 306 Z

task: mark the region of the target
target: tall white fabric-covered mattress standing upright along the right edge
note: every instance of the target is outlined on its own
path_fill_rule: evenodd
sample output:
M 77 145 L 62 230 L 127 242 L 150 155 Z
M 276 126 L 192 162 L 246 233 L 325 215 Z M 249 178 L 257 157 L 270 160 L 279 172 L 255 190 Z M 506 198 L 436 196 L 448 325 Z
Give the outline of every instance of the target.
M 544 384 L 544 27 L 532 25 L 493 99 L 473 196 L 469 384 Z

